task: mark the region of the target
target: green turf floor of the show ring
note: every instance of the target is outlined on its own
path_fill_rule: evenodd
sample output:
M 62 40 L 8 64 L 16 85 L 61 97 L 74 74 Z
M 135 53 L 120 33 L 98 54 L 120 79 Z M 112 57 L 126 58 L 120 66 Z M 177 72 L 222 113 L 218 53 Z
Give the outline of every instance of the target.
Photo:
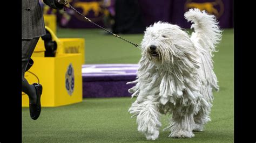
M 137 63 L 140 51 L 102 30 L 58 30 L 59 38 L 85 38 L 86 63 Z M 121 35 L 139 44 L 142 34 Z M 160 131 L 155 142 L 234 142 L 234 62 L 233 30 L 224 30 L 223 40 L 215 53 L 214 71 L 220 91 L 214 92 L 211 119 L 205 131 L 191 139 L 171 139 Z M 37 120 L 30 119 L 29 109 L 22 108 L 23 142 L 147 142 L 138 133 L 136 118 L 127 112 L 134 99 L 91 98 L 82 103 L 43 108 Z M 161 118 L 163 129 L 169 116 Z

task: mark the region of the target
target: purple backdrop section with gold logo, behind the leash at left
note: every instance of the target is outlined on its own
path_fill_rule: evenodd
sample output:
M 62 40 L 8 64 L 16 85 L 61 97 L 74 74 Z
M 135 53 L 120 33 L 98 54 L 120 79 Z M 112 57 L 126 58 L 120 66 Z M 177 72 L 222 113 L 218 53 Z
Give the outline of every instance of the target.
M 40 1 L 39 1 L 40 2 Z M 56 14 L 60 27 L 66 28 L 98 28 L 72 9 L 54 10 L 41 0 L 44 14 Z M 109 17 L 114 15 L 114 0 L 69 0 L 69 3 L 92 22 L 100 26 L 109 25 Z

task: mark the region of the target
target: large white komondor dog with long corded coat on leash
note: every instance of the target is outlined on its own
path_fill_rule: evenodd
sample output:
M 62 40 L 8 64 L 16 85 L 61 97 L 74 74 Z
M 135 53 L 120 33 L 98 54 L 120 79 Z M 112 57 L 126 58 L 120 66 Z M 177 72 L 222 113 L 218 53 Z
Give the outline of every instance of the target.
M 147 140 L 158 138 L 161 114 L 172 113 L 164 129 L 171 138 L 192 138 L 210 121 L 212 90 L 219 90 L 212 53 L 222 31 L 205 11 L 190 9 L 185 18 L 193 23 L 191 36 L 177 25 L 158 22 L 146 28 L 140 45 L 137 79 L 129 82 L 136 83 L 129 92 L 137 99 L 129 112 Z

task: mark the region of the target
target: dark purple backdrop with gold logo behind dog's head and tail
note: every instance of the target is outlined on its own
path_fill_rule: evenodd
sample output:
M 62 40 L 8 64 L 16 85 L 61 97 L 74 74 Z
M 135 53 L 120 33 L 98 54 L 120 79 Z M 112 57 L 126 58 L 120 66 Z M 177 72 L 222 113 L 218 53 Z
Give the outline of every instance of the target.
M 233 27 L 232 0 L 139 0 L 142 8 L 144 25 L 149 26 L 159 20 L 190 28 L 184 13 L 191 8 L 206 10 L 215 15 L 221 28 Z

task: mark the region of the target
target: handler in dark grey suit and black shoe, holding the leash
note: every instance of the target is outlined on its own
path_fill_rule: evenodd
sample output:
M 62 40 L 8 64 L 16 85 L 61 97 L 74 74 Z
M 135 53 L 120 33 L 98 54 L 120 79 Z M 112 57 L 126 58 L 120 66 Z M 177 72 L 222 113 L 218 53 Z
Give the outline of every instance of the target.
M 63 9 L 65 0 L 43 0 L 53 9 Z M 29 96 L 30 117 L 36 120 L 41 113 L 43 87 L 39 83 L 29 84 L 25 71 L 33 65 L 31 55 L 39 37 L 46 34 L 43 11 L 38 0 L 22 0 L 22 91 Z

